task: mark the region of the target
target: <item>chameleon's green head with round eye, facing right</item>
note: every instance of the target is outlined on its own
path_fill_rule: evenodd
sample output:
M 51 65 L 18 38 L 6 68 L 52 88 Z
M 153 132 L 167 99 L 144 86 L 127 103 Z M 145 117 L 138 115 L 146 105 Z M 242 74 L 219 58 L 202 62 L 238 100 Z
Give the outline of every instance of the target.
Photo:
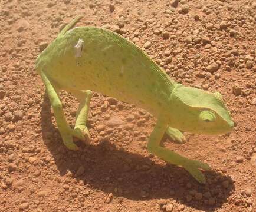
M 170 97 L 170 127 L 196 134 L 224 134 L 234 122 L 221 94 L 177 84 Z

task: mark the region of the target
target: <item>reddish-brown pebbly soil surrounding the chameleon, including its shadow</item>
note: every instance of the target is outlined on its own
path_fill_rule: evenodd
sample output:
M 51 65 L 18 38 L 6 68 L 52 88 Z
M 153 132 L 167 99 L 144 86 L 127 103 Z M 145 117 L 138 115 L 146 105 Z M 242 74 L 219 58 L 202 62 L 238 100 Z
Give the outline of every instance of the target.
M 34 62 L 78 14 L 78 25 L 135 42 L 173 80 L 224 95 L 230 134 L 163 138 L 211 165 L 206 185 L 148 153 L 149 113 L 100 94 L 91 145 L 65 148 Z M 0 211 L 256 211 L 255 24 L 253 0 L 0 0 Z M 78 102 L 61 98 L 72 125 Z

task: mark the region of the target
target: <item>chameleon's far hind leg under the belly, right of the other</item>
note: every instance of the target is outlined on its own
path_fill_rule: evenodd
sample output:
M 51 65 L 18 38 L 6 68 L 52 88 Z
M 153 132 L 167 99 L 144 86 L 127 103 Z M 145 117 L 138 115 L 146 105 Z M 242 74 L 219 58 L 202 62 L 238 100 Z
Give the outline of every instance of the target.
M 91 91 L 71 91 L 78 101 L 80 102 L 77 115 L 76 115 L 76 124 L 74 127 L 74 130 L 76 130 L 78 133 L 81 134 L 81 136 L 84 137 L 82 141 L 84 141 L 85 144 L 90 144 L 90 134 L 88 131 L 88 128 L 86 127 L 86 122 L 88 118 L 88 112 L 89 112 L 89 104 L 91 100 Z

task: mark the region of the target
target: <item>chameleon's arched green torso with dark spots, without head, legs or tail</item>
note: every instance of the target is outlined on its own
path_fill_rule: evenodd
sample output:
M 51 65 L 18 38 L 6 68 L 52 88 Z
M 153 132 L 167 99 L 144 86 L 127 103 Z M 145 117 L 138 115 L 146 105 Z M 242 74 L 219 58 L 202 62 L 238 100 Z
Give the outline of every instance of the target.
M 79 39 L 83 46 L 77 53 Z M 153 113 L 168 106 L 170 78 L 122 36 L 103 28 L 78 27 L 53 43 L 54 48 L 50 45 L 40 57 L 47 57 L 45 73 L 64 90 L 97 91 Z

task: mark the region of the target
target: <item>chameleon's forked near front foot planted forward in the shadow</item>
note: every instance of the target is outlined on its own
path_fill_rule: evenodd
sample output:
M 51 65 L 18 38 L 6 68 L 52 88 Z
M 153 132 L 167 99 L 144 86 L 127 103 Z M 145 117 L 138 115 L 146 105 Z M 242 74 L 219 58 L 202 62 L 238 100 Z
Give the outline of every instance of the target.
M 198 160 L 188 160 L 184 165 L 182 165 L 185 170 L 189 172 L 199 183 L 205 184 L 206 180 L 202 171 L 199 170 L 211 170 L 208 164 L 202 163 Z

